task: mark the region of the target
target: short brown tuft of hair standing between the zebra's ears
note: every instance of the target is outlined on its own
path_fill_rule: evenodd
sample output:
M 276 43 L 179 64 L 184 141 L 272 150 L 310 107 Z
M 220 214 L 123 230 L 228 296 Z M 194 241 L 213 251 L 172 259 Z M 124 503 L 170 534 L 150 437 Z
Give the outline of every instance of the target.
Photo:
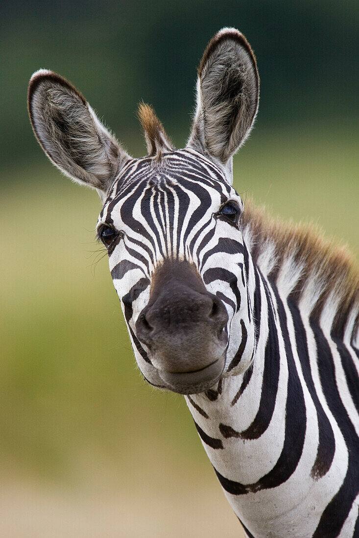
M 140 103 L 137 116 L 142 125 L 149 157 L 160 156 L 163 152 L 174 150 L 162 123 L 149 104 Z

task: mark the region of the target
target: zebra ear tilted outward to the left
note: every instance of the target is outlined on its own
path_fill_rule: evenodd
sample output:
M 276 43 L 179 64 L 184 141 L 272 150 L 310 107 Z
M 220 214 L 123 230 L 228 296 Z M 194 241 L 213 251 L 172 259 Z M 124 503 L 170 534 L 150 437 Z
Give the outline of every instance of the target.
M 31 77 L 27 103 L 34 133 L 50 160 L 103 199 L 129 155 L 85 98 L 63 77 L 40 69 Z

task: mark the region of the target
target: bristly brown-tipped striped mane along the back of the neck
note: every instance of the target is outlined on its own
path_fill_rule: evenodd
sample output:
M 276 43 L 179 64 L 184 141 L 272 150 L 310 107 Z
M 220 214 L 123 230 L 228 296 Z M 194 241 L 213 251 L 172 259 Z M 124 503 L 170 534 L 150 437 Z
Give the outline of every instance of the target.
M 346 245 L 313 224 L 273 218 L 245 203 L 243 237 L 253 261 L 279 292 L 341 339 L 358 337 L 359 268 Z

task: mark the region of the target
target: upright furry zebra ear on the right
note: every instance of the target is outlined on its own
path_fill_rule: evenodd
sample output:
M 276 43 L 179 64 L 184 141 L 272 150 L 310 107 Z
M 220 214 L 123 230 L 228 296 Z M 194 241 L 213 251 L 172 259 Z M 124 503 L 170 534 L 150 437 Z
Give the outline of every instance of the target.
M 227 165 L 256 118 L 259 76 L 246 38 L 234 28 L 213 37 L 198 68 L 197 108 L 188 145 Z

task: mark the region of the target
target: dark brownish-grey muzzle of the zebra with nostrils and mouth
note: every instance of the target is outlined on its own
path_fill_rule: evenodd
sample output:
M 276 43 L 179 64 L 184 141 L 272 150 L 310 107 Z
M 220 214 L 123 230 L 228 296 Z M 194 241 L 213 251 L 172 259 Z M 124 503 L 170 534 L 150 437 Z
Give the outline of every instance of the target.
M 222 374 L 227 322 L 222 301 L 206 290 L 196 267 L 166 261 L 154 275 L 136 336 L 164 385 L 189 394 L 209 388 Z

